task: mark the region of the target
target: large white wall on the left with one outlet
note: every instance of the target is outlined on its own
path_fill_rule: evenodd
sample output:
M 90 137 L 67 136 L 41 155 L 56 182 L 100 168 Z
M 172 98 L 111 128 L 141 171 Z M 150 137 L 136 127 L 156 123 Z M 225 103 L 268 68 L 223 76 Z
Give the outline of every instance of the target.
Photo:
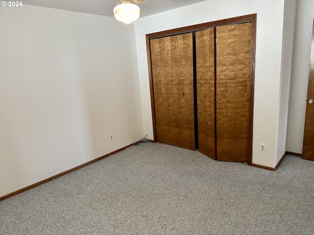
M 133 25 L 29 5 L 0 22 L 0 196 L 142 139 Z

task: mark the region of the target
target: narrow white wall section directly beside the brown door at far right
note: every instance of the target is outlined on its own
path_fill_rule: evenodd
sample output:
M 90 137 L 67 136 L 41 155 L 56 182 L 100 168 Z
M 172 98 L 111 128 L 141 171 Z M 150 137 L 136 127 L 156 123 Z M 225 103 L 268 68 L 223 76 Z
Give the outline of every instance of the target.
M 286 150 L 302 153 L 314 1 L 298 0 L 297 2 Z

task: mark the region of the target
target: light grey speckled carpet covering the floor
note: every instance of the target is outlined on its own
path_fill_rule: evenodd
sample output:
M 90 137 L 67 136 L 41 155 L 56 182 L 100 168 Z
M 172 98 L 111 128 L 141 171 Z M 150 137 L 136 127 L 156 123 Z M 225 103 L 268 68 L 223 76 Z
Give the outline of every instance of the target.
M 276 171 L 140 143 L 0 202 L 1 235 L 312 235 L 314 162 Z

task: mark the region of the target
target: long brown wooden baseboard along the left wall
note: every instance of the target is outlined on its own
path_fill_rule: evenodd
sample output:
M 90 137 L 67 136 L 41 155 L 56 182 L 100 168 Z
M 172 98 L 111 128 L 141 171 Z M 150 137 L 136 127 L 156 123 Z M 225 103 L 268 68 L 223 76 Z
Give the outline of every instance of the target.
M 63 175 L 66 175 L 66 174 L 68 174 L 68 173 L 70 173 L 70 172 L 73 172 L 73 171 L 75 171 L 75 170 L 78 170 L 78 169 L 80 169 L 80 168 L 82 168 L 82 167 L 84 167 L 84 166 L 86 166 L 86 165 L 89 165 L 89 164 L 98 162 L 98 161 L 100 161 L 100 160 L 102 160 L 102 159 L 104 159 L 104 158 L 106 158 L 106 157 L 109 157 L 109 156 L 111 156 L 111 155 L 113 155 L 113 154 L 115 154 L 115 153 L 118 153 L 118 152 L 120 152 L 120 151 L 122 151 L 122 150 L 125 150 L 126 148 L 132 146 L 133 144 L 134 144 L 134 143 L 129 144 L 128 146 L 125 146 L 125 147 L 123 147 L 123 148 L 120 148 L 120 149 L 118 149 L 118 150 L 115 150 L 115 151 L 113 151 L 113 152 L 111 152 L 111 153 L 108 153 L 108 154 L 102 156 L 102 157 L 99 157 L 99 158 L 96 158 L 96 159 L 94 159 L 94 160 L 92 160 L 92 161 L 89 161 L 89 162 L 87 162 L 87 163 L 78 165 L 78 166 L 76 166 L 76 167 L 74 167 L 74 168 L 72 168 L 72 169 L 66 170 L 66 171 L 61 172 L 61 173 L 59 173 L 59 174 L 56 174 L 56 175 L 54 175 L 54 176 L 52 176 L 52 177 L 49 177 L 49 178 L 47 178 L 47 179 L 45 179 L 45 180 L 42 180 L 42 181 L 39 181 L 39 182 L 37 182 L 37 183 L 35 183 L 35 184 L 32 184 L 32 185 L 30 185 L 30 186 L 27 186 L 27 187 L 25 187 L 25 188 L 21 188 L 21 189 L 19 189 L 19 190 L 16 190 L 16 191 L 14 191 L 14 192 L 11 192 L 11 193 L 9 193 L 9 194 L 6 194 L 6 195 L 0 197 L 0 201 L 2 201 L 2 200 L 4 200 L 4 199 L 7 199 L 7 198 L 9 198 L 9 197 L 12 197 L 12 196 L 14 196 L 14 195 L 16 195 L 16 194 L 19 194 L 19 193 L 21 193 L 21 192 L 25 192 L 25 191 L 28 190 L 28 189 L 35 188 L 35 187 L 37 187 L 37 186 L 39 186 L 39 185 L 42 185 L 42 184 L 45 184 L 45 183 L 47 183 L 47 182 L 49 182 L 49 181 L 52 181 L 52 180 L 54 180 L 54 179 L 57 179 L 57 178 L 59 178 L 59 177 L 61 177 L 61 176 L 63 176 Z

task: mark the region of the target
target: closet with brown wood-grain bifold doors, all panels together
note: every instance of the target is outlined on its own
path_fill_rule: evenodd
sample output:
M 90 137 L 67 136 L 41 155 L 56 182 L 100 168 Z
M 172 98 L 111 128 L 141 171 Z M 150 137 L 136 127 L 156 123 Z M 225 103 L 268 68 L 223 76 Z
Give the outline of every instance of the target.
M 250 17 L 147 38 L 155 141 L 250 163 L 256 15 Z

